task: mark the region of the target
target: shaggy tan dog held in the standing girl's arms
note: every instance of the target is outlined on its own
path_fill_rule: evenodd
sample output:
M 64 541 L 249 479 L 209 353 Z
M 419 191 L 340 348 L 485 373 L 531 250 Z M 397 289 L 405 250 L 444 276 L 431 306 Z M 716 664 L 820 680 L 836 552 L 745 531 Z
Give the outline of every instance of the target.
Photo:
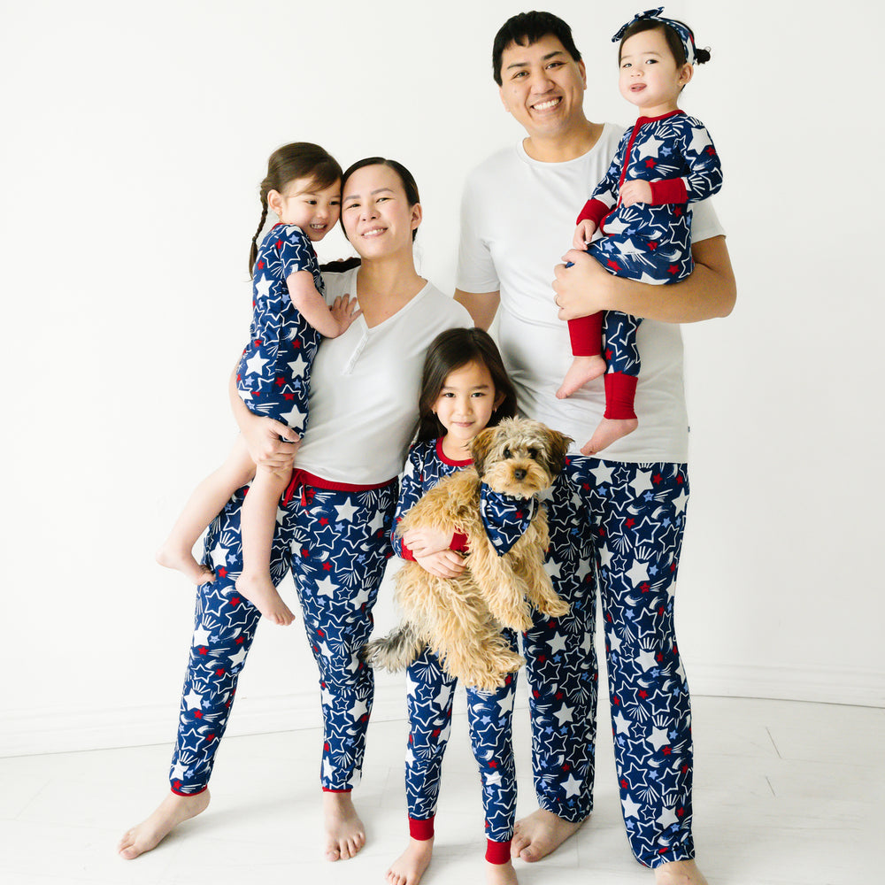
M 417 562 L 407 562 L 396 573 L 403 620 L 392 633 L 366 645 L 364 660 L 400 670 L 428 645 L 451 676 L 487 691 L 525 664 L 502 627 L 520 632 L 531 627 L 529 605 L 551 618 L 568 612 L 543 567 L 550 545 L 547 514 L 529 499 L 553 484 L 571 442 L 537 421 L 519 418 L 505 419 L 476 436 L 473 467 L 430 489 L 396 528 L 400 535 L 416 527 L 457 528 L 467 535 L 466 567 L 457 578 L 439 578 Z M 525 534 L 503 556 L 482 522 L 482 483 L 534 507 Z

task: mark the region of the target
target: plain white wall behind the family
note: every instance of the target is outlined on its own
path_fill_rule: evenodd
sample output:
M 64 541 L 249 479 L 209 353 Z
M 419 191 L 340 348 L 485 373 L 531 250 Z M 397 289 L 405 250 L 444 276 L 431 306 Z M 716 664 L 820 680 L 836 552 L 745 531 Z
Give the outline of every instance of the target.
M 585 54 L 591 119 L 632 119 L 609 35 L 640 6 L 548 7 Z M 882 14 L 847 0 L 793 22 L 782 7 L 667 7 L 714 52 L 684 106 L 723 158 L 740 288 L 731 317 L 685 329 L 681 652 L 696 692 L 881 705 Z M 304 139 L 343 165 L 401 159 L 423 196 L 422 272 L 451 289 L 464 175 L 520 135 L 489 56 L 529 6 L 252 8 L 261 19 L 235 0 L 4 12 L 0 754 L 172 738 L 193 593 L 152 551 L 235 432 L 227 373 L 270 151 Z M 321 245 L 342 254 L 337 232 Z M 315 720 L 301 630 L 261 627 L 232 730 Z M 402 709 L 383 680 L 379 713 Z

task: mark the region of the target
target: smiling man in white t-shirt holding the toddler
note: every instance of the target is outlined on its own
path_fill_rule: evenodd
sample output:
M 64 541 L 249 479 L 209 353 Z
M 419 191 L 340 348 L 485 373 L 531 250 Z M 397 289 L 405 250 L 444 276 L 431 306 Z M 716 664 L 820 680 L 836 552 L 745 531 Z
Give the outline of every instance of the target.
M 583 443 L 602 416 L 603 385 L 600 379 L 556 398 L 571 360 L 561 320 L 596 310 L 646 319 L 638 336 L 640 427 L 602 458 L 572 456 L 547 504 L 548 569 L 572 612 L 558 622 L 536 622 L 525 637 L 540 808 L 519 821 L 512 852 L 527 861 L 543 858 L 592 809 L 596 570 L 627 836 L 658 885 L 701 885 L 691 839 L 689 696 L 673 634 L 688 498 L 681 336 L 673 324 L 731 311 L 735 282 L 725 238 L 712 210 L 698 205 L 696 269 L 666 287 L 613 277 L 571 251 L 574 266 L 556 268 L 558 312 L 550 288 L 554 266 L 623 130 L 585 116 L 581 54 L 556 16 L 508 19 L 496 35 L 493 65 L 504 109 L 527 137 L 468 178 L 455 296 L 477 326 L 489 327 L 498 316 L 520 410 Z

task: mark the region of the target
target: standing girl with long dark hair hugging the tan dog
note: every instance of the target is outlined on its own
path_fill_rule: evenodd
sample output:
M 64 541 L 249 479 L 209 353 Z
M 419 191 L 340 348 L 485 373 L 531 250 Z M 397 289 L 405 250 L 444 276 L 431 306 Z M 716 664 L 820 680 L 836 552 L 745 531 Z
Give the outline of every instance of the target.
M 419 399 L 419 429 L 400 478 L 396 522 L 443 479 L 472 464 L 470 445 L 485 427 L 516 414 L 516 393 L 495 342 L 478 328 L 450 329 L 427 350 Z M 439 532 L 412 528 L 396 553 L 443 578 L 464 568 L 458 552 L 466 538 L 456 527 Z M 516 636 L 510 632 L 516 650 Z M 443 754 L 450 732 L 456 680 L 425 648 L 407 670 L 409 743 L 405 789 L 409 844 L 387 873 L 390 885 L 417 885 L 434 846 L 434 820 Z M 473 755 L 480 768 L 490 883 L 515 882 L 511 839 L 516 816 L 516 769 L 512 750 L 515 673 L 496 691 L 466 689 Z

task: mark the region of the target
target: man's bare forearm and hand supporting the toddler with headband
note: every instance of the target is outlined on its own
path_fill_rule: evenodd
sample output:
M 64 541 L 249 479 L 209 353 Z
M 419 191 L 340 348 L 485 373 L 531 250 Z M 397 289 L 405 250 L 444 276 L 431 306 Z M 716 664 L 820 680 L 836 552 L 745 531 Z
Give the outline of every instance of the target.
M 737 286 L 725 237 L 693 243 L 691 255 L 695 269 L 689 277 L 672 285 L 653 286 L 613 276 L 596 258 L 570 250 L 563 258 L 573 266 L 557 265 L 554 271 L 559 319 L 585 317 L 596 311 L 620 311 L 664 323 L 727 317 L 735 306 Z

